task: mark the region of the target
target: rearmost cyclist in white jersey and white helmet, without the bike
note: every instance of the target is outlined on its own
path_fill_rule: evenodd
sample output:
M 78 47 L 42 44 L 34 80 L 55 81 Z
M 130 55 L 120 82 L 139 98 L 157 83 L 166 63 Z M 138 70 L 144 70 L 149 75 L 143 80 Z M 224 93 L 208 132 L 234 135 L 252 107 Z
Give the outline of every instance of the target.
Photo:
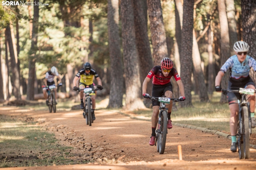
M 55 82 L 54 82 L 54 77 L 55 76 L 57 76 L 58 79 L 60 80 L 60 83 L 58 85 L 62 86 L 61 77 L 58 74 L 57 68 L 54 67 L 54 66 L 51 68 L 50 71 L 46 72 L 45 79 L 44 79 L 44 84 L 46 86 L 54 85 L 55 84 Z M 56 96 L 57 96 L 57 90 L 56 89 L 54 89 L 54 93 L 55 93 L 55 98 L 56 98 Z M 44 96 L 44 99 L 46 99 L 46 105 L 48 106 L 49 102 L 48 102 L 47 88 L 46 87 L 43 88 L 43 96 Z M 57 104 L 56 99 L 55 99 L 55 102 Z

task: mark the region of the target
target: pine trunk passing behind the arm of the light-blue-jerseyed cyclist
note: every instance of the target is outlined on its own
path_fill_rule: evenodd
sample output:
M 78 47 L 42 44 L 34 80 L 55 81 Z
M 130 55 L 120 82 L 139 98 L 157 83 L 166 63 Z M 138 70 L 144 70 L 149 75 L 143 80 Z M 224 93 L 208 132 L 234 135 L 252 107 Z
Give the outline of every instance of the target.
M 230 46 L 229 46 L 229 33 L 228 33 L 228 19 L 226 13 L 225 0 L 218 0 L 218 11 L 219 11 L 219 23 L 221 25 L 221 65 L 223 65 L 230 57 Z M 227 89 L 228 87 L 228 73 L 226 73 L 221 81 L 221 87 Z M 221 94 L 220 102 L 227 102 L 226 95 Z

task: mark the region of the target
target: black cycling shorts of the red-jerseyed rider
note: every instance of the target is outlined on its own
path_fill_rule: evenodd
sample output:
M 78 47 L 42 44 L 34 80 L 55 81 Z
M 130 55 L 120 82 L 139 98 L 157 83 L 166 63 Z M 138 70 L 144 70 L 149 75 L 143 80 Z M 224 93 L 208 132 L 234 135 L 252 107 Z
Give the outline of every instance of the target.
M 156 85 L 152 86 L 152 96 L 153 97 L 162 97 L 166 91 L 172 92 L 172 84 L 171 82 L 165 85 Z M 152 101 L 152 106 L 160 106 L 159 101 Z

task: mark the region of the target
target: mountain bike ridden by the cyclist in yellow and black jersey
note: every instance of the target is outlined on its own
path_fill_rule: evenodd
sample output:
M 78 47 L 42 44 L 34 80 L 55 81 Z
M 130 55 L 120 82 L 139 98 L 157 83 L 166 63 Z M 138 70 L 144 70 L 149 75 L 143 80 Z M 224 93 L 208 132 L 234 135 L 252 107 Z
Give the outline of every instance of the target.
M 85 95 L 85 107 L 84 107 L 84 112 L 83 112 L 83 116 L 86 120 L 86 125 L 89 125 L 91 126 L 91 124 L 93 123 L 93 118 L 92 118 L 92 110 L 93 110 L 93 104 L 92 104 L 92 101 L 91 101 L 91 96 L 90 96 L 90 93 L 92 91 L 97 91 L 97 90 L 100 90 L 98 88 L 89 88 L 89 86 L 86 86 L 85 89 L 80 89 L 80 90 L 77 90 L 77 91 L 84 91 L 84 93 L 86 94 Z

